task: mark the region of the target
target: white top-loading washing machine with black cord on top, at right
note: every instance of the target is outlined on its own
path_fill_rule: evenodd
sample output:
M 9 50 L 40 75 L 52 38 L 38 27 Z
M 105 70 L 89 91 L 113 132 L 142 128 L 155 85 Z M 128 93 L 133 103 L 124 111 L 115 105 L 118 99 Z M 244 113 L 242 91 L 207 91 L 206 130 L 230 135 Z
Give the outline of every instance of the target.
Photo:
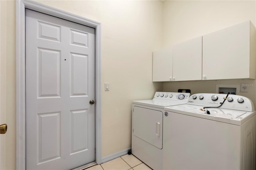
M 250 99 L 194 94 L 187 104 L 164 110 L 164 169 L 255 170 L 256 112 Z

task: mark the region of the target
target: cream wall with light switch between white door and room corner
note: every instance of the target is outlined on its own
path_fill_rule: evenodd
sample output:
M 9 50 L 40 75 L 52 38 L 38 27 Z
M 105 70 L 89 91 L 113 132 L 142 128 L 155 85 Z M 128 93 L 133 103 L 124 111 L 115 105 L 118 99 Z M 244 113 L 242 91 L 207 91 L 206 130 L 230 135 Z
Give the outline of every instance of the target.
M 132 100 L 162 90 L 152 83 L 152 51 L 162 45 L 162 3 L 40 2 L 102 23 L 102 156 L 131 147 Z

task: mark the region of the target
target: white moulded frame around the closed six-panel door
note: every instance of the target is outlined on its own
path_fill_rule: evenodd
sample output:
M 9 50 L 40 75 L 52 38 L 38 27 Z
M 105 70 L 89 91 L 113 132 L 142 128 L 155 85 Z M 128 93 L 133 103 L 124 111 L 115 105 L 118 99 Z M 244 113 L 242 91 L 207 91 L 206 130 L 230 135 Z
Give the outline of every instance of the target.
M 26 91 L 25 91 L 25 9 L 95 28 L 95 160 L 102 163 L 101 145 L 101 23 L 44 4 L 16 1 L 16 169 L 26 169 Z M 75 167 L 74 167 L 75 168 Z

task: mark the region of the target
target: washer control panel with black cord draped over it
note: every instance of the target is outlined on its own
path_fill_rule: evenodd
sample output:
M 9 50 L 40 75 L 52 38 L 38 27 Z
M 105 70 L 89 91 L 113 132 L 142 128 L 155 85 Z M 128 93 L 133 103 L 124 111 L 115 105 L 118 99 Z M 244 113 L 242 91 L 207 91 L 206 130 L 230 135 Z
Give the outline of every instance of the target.
M 242 110 L 242 111 L 254 111 L 254 105 L 249 98 L 246 98 L 244 96 L 234 95 L 234 94 L 229 94 L 228 96 L 227 94 L 211 94 L 211 93 L 193 94 L 188 99 L 187 104 L 199 105 L 199 106 L 205 106 L 205 107 L 218 107 L 222 105 L 219 108 Z

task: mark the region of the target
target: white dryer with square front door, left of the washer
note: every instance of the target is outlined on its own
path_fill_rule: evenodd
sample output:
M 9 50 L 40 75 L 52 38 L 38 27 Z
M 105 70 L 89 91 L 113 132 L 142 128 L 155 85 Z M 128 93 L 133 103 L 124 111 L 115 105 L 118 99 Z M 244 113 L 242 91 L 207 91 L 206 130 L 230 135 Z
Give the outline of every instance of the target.
M 163 169 L 164 107 L 186 104 L 190 93 L 156 92 L 132 102 L 132 154 L 154 170 Z

